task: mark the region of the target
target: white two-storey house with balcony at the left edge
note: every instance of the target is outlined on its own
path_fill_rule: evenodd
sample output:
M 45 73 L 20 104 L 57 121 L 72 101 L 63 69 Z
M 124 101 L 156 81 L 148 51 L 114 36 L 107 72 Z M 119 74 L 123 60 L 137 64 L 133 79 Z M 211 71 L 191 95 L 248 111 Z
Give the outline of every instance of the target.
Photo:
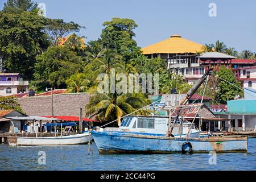
M 19 73 L 0 73 L 0 96 L 27 93 L 28 81 L 23 81 Z

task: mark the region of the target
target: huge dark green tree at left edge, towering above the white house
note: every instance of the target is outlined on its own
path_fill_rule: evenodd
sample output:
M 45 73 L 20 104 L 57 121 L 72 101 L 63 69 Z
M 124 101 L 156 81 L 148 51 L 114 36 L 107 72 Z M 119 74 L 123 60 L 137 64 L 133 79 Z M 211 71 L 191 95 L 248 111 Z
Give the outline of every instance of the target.
M 30 79 L 36 55 L 48 46 L 43 29 L 46 22 L 37 10 L 20 14 L 0 12 L 0 57 L 9 72 Z

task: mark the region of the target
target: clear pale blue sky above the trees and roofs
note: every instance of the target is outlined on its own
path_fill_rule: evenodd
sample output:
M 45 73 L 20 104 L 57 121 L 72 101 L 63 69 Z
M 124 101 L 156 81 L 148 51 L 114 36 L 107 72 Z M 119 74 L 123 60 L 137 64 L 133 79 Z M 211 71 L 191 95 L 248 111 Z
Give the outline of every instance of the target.
M 6 0 L 0 0 L 0 9 Z M 73 21 L 86 28 L 86 42 L 100 37 L 102 23 L 111 18 L 130 18 L 139 47 L 146 47 L 179 34 L 200 44 L 221 40 L 237 51 L 256 52 L 256 1 L 236 0 L 36 0 L 45 3 L 48 18 Z M 216 16 L 210 17 L 210 3 Z

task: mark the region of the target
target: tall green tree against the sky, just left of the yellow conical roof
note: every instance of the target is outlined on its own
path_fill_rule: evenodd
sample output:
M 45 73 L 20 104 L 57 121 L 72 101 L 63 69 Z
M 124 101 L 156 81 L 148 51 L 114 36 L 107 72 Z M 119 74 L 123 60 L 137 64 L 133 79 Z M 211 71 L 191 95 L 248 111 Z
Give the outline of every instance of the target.
M 138 26 L 134 20 L 112 18 L 111 21 L 104 22 L 103 26 L 105 28 L 102 30 L 101 39 L 104 47 L 115 49 L 125 62 L 141 54 L 141 49 L 133 39 L 133 30 Z

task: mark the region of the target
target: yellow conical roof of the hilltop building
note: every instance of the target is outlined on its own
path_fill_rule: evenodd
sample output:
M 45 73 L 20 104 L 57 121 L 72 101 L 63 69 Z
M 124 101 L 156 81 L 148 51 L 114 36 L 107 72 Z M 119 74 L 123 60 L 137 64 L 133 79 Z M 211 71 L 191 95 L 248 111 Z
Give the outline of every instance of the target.
M 181 38 L 180 35 L 172 35 L 166 40 L 142 48 L 144 55 L 151 53 L 196 53 L 202 50 L 201 44 Z

